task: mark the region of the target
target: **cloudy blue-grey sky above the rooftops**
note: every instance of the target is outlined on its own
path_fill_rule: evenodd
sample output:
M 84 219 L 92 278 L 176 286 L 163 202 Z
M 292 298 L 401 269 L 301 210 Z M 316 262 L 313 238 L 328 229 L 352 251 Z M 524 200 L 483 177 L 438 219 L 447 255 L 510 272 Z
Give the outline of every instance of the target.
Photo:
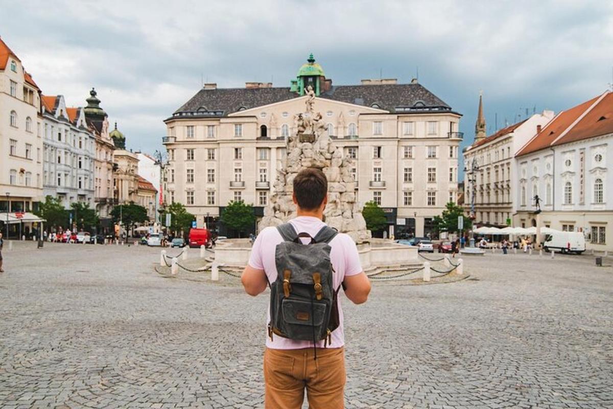
M 166 4 L 164 4 L 166 3 Z M 153 153 L 162 120 L 205 82 L 289 86 L 309 52 L 336 85 L 419 82 L 464 116 L 479 90 L 488 134 L 566 109 L 613 82 L 611 1 L 4 1 L 0 36 L 44 94 L 96 87 L 128 148 Z M 521 117 L 518 117 L 518 114 Z

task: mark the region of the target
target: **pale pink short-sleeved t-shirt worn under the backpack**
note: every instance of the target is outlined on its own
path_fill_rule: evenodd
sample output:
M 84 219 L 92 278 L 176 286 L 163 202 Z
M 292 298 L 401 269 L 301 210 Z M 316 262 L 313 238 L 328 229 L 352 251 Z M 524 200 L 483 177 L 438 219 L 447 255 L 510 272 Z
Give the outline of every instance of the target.
M 289 221 L 294 226 L 297 233 L 307 232 L 311 237 L 321 230 L 326 225 L 323 221 L 311 216 L 298 216 Z M 310 239 L 306 239 L 308 242 Z M 276 280 L 276 264 L 275 264 L 275 248 L 276 245 L 283 242 L 283 237 L 276 227 L 266 227 L 260 234 L 257 235 L 256 241 L 251 249 L 249 257 L 249 266 L 256 270 L 264 270 L 268 277 L 268 281 L 273 283 Z M 332 241 L 330 241 L 330 261 L 334 267 L 332 276 L 332 285 L 338 288 L 346 276 L 356 275 L 362 272 L 362 265 L 357 253 L 356 243 L 346 234 L 338 233 Z M 340 348 L 345 345 L 345 337 L 343 335 L 343 309 L 341 308 L 340 296 L 338 297 L 338 328 L 332 332 L 332 343 L 328 348 Z M 268 308 L 267 323 L 270 322 L 270 308 Z M 262 332 L 266 337 L 266 346 L 275 350 L 298 350 L 300 348 L 313 348 L 313 342 L 291 340 L 273 335 L 273 340 L 268 337 L 267 327 L 263 327 Z M 324 347 L 324 341 L 316 343 L 319 348 Z

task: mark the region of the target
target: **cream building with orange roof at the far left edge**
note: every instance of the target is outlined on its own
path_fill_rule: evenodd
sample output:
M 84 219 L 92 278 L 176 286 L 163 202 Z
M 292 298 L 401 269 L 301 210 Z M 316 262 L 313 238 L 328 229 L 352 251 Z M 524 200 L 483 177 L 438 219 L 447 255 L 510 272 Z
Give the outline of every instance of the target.
M 32 212 L 42 199 L 41 123 L 39 87 L 25 71 L 18 56 L 0 39 L 2 213 L 6 213 L 7 208 L 10 213 Z M 3 232 L 6 234 L 6 231 Z M 13 226 L 10 234 L 12 237 L 18 234 L 17 227 Z

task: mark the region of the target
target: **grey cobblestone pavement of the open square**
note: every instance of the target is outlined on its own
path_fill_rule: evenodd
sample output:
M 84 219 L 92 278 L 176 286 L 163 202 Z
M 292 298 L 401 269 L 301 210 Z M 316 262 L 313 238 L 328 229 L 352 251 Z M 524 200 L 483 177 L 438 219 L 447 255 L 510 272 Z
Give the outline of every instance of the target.
M 3 253 L 0 407 L 262 407 L 266 296 L 163 278 L 153 248 Z M 468 280 L 343 300 L 346 407 L 613 407 L 612 258 L 465 262 Z

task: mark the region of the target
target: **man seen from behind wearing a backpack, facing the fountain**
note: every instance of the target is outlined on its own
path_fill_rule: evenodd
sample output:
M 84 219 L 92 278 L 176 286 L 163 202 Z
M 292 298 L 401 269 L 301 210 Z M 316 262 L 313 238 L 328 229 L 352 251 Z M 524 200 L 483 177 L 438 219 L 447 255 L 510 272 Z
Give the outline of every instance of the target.
M 257 235 L 242 275 L 249 295 L 271 290 L 265 407 L 299 409 L 307 388 L 310 408 L 343 408 L 345 340 L 338 293 L 342 288 L 349 300 L 362 304 L 370 281 L 356 243 L 322 221 L 326 175 L 303 169 L 293 187 L 297 217 Z

